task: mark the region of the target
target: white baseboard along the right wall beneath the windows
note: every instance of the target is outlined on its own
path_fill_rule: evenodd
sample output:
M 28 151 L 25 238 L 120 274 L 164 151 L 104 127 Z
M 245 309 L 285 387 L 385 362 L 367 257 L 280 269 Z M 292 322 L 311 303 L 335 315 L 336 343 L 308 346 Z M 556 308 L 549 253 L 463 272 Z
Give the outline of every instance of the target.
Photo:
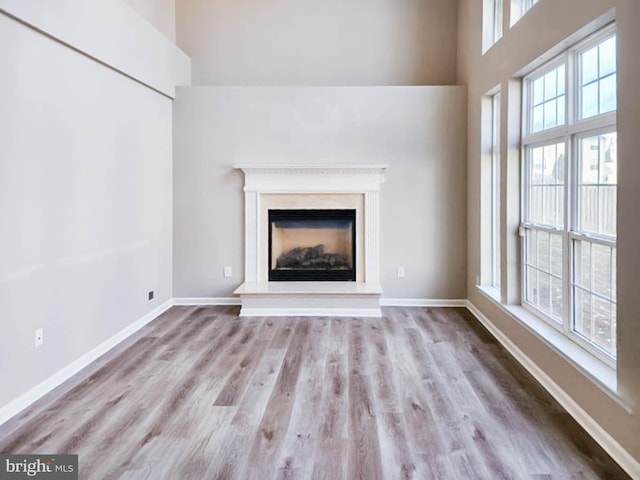
M 551 394 L 582 428 L 613 458 L 631 478 L 640 479 L 640 463 L 627 452 L 609 433 L 600 426 L 575 400 L 565 392 L 544 370 L 531 360 L 516 344 L 502 333 L 473 303 L 466 307 L 502 344 L 502 346 Z

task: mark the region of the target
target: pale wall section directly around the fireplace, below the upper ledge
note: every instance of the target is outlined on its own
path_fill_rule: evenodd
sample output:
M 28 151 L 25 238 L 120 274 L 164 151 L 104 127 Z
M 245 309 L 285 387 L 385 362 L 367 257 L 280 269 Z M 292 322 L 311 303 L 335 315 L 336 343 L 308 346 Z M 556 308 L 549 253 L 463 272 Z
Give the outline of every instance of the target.
M 463 87 L 179 88 L 175 296 L 228 297 L 242 283 L 244 179 L 232 166 L 271 162 L 388 164 L 384 296 L 465 298 L 465 116 Z

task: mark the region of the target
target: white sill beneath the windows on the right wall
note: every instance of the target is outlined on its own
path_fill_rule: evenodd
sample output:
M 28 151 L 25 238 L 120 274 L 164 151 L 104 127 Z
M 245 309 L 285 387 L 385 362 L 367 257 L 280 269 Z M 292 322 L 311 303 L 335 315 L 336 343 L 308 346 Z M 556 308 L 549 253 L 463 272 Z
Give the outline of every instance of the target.
M 497 289 L 480 285 L 476 286 L 476 288 L 483 296 L 495 303 L 511 318 L 524 325 L 541 341 L 552 347 L 582 375 L 591 380 L 627 412 L 631 413 L 632 409 L 618 395 L 618 380 L 614 368 L 572 342 L 524 307 L 503 305 L 500 302 L 500 292 Z

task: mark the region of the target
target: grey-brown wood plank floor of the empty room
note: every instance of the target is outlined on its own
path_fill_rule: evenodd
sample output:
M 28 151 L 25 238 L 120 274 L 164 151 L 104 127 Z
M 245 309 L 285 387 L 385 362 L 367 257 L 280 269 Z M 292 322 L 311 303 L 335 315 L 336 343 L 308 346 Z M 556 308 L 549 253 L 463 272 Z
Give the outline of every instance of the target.
M 82 479 L 624 479 L 466 309 L 174 307 L 0 427 Z

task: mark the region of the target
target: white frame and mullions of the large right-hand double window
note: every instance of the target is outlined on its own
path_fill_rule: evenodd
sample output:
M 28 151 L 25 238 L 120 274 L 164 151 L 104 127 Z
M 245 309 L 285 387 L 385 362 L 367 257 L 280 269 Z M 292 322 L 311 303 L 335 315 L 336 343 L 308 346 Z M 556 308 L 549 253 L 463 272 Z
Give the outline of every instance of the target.
M 615 25 L 609 25 L 602 30 L 590 35 L 582 42 L 558 55 L 543 66 L 529 73 L 523 79 L 523 122 L 522 122 L 522 185 L 521 185 L 521 303 L 524 308 L 534 313 L 539 318 L 545 320 L 553 328 L 570 338 L 597 358 L 605 361 L 610 366 L 615 367 L 615 354 L 590 342 L 582 335 L 574 331 L 575 301 L 574 290 L 574 241 L 586 241 L 592 244 L 605 245 L 613 249 L 616 248 L 616 238 L 605 235 L 592 235 L 578 229 L 578 142 L 581 138 L 606 134 L 616 131 L 616 111 L 599 114 L 586 119 L 580 118 L 581 108 L 581 88 L 579 55 L 589 50 L 594 45 L 599 44 L 606 38 L 615 35 Z M 545 73 L 565 64 L 565 123 L 546 130 L 531 133 L 533 119 L 533 92 L 531 85 L 534 80 L 540 78 Z M 617 67 L 616 67 L 617 71 Z M 536 147 L 552 143 L 563 143 L 565 145 L 565 165 L 564 165 L 564 202 L 563 202 L 563 225 L 562 227 L 551 227 L 549 225 L 537 225 L 529 221 L 526 217 L 526 209 L 529 205 L 529 178 L 528 178 L 528 155 Z M 526 301 L 527 278 L 526 278 L 526 240 L 528 230 L 556 233 L 562 235 L 562 318 L 559 322 L 546 312 L 540 310 L 536 305 Z M 613 279 L 615 281 L 615 278 Z M 615 299 L 613 300 L 615 303 Z M 615 342 L 615 337 L 612 340 Z M 615 346 L 612 346 L 612 351 Z

